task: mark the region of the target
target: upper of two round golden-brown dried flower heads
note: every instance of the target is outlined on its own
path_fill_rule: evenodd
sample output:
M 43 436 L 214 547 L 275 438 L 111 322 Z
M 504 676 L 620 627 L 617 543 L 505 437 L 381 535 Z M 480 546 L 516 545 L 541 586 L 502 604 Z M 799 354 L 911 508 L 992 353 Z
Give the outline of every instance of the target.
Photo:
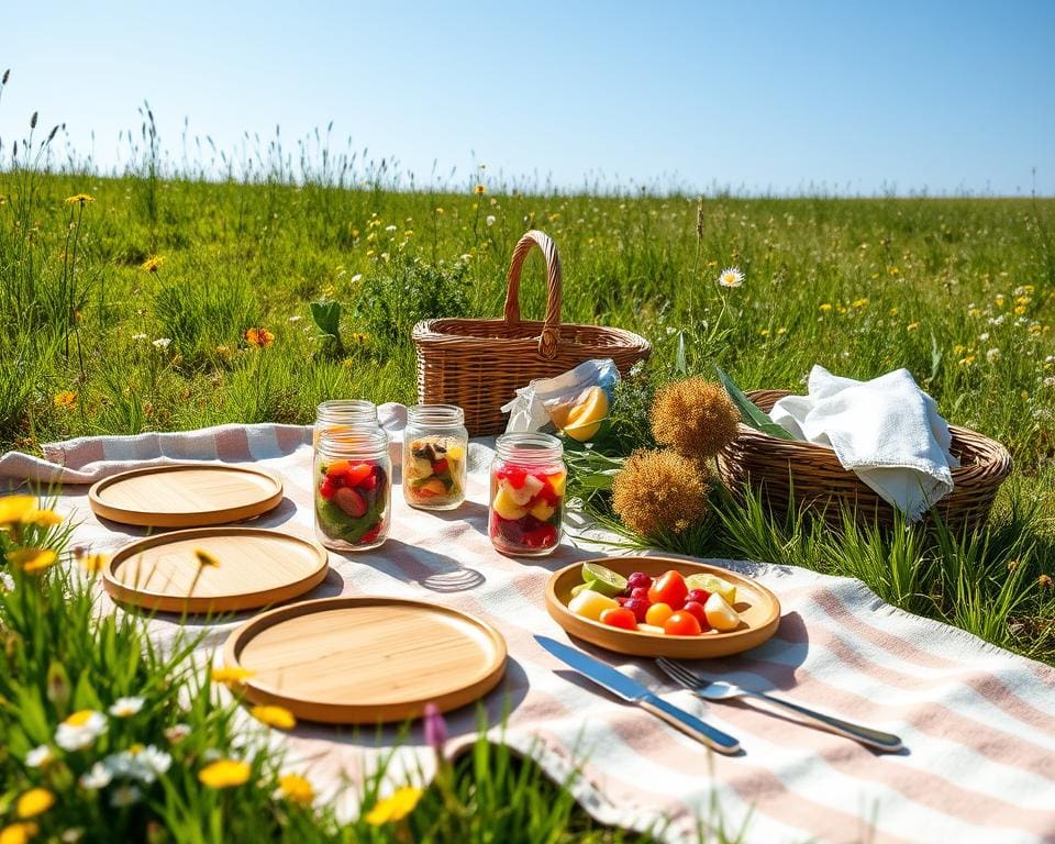
M 656 442 L 690 457 L 713 457 L 736 438 L 738 423 L 729 393 L 704 378 L 668 384 L 652 404 Z

